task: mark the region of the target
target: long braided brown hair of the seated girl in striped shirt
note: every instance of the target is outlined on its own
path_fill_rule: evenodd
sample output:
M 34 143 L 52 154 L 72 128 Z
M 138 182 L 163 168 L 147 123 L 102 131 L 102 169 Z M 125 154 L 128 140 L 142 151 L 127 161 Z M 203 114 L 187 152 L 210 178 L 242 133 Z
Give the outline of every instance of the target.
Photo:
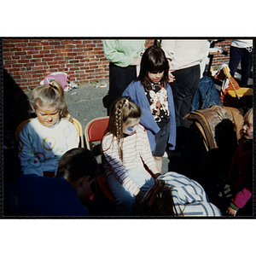
M 137 119 L 142 115 L 141 108 L 137 106 L 134 102 L 131 102 L 131 98 L 119 97 L 115 102 L 113 102 L 109 110 L 109 121 L 108 128 L 104 133 L 113 134 L 113 137 L 117 138 L 120 159 L 123 161 L 123 151 L 120 146 L 120 141 L 124 137 L 123 135 L 123 125 L 128 119 Z

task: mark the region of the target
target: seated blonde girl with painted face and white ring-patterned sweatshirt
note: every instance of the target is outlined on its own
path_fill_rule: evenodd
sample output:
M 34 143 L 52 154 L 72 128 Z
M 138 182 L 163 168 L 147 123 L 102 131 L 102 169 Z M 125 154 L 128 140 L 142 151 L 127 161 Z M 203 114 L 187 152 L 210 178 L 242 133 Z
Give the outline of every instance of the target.
M 20 131 L 19 160 L 23 174 L 53 177 L 61 155 L 79 147 L 61 85 L 55 80 L 32 90 L 30 104 L 36 119 Z

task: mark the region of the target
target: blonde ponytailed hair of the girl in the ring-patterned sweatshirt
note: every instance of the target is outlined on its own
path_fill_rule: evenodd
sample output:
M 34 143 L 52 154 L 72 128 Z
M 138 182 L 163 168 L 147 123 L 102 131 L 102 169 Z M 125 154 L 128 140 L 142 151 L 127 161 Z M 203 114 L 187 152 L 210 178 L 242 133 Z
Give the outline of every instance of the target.
M 35 111 L 44 107 L 55 107 L 60 111 L 60 119 L 64 118 L 70 122 L 73 119 L 70 113 L 67 111 L 67 103 L 64 98 L 64 91 L 61 84 L 55 80 L 51 80 L 49 85 L 39 85 L 32 90 L 32 96 L 30 99 L 32 109 Z

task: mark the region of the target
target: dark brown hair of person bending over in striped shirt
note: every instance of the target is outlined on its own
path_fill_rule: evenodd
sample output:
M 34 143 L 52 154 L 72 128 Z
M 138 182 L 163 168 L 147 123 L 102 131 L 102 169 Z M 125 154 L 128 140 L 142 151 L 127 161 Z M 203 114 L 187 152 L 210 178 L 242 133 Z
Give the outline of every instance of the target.
M 172 186 L 165 181 L 156 179 L 154 185 L 144 195 L 143 201 L 138 207 L 139 216 L 183 216 L 174 205 L 172 198 Z

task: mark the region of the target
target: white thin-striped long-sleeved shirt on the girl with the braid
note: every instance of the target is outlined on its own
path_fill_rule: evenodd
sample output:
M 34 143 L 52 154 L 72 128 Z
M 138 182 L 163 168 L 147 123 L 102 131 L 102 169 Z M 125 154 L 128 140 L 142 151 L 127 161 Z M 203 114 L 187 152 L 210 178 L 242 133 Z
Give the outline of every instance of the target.
M 120 159 L 117 138 L 113 137 L 113 134 L 107 134 L 103 137 L 102 149 L 105 156 L 106 176 L 113 173 L 126 189 L 133 195 L 137 195 L 140 189 L 125 171 L 138 166 L 143 167 L 143 162 L 149 170 L 156 166 L 149 147 L 148 135 L 143 126 L 138 125 L 136 133 L 121 139 L 120 147 L 123 150 L 123 161 Z M 147 171 L 145 170 L 145 172 Z

